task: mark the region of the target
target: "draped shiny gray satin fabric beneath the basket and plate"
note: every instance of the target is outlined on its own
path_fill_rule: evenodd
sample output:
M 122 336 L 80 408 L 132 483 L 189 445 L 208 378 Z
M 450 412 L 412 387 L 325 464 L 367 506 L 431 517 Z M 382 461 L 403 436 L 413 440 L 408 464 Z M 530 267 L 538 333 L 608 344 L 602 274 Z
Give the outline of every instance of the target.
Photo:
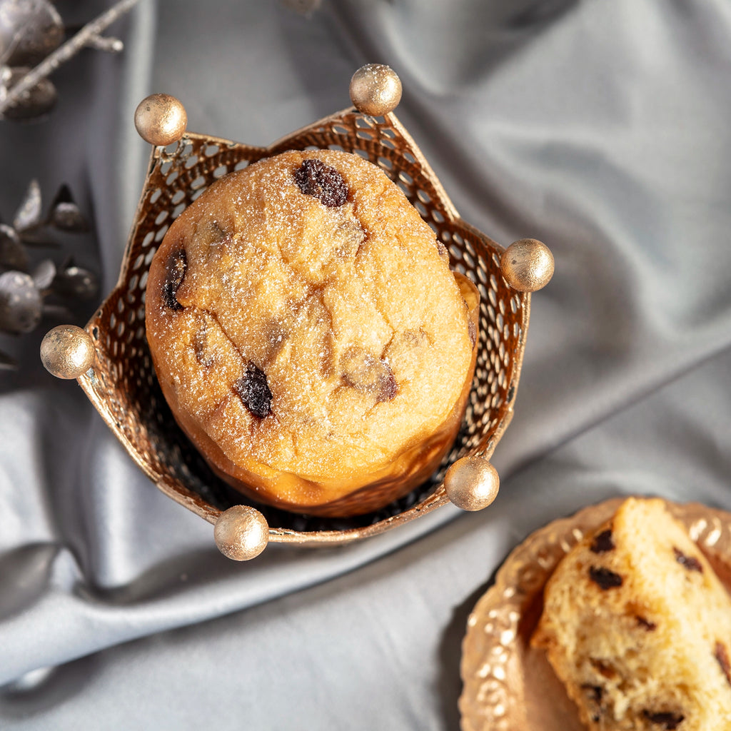
M 80 23 L 108 3 L 57 5 Z M 113 31 L 124 54 L 59 69 L 47 121 L 0 123 L 1 216 L 32 177 L 47 202 L 69 183 L 95 227 L 64 245 L 105 292 L 143 181 L 143 96 L 267 144 L 349 105 L 366 61 L 398 71 L 398 116 L 463 218 L 544 240 L 556 275 L 532 300 L 491 508 L 249 564 L 42 370 L 56 322 L 0 336 L 23 363 L 0 373 L 0 727 L 453 729 L 466 617 L 529 532 L 621 493 L 731 510 L 727 2 L 346 0 L 304 17 L 142 0 Z

